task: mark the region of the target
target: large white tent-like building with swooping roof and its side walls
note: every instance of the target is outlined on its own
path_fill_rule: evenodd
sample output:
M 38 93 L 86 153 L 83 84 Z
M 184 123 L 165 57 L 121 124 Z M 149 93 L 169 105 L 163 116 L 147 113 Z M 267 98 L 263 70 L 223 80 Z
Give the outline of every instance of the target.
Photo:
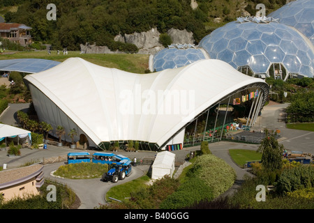
M 133 140 L 153 151 L 183 144 L 186 128 L 200 127 L 195 121 L 204 116 L 209 125 L 204 131 L 195 128 L 201 131 L 197 136 L 221 128 L 234 116 L 246 116 L 245 124 L 253 125 L 269 91 L 264 80 L 216 59 L 142 75 L 70 58 L 27 75 L 24 82 L 39 120 L 52 125 L 55 137 L 62 125 L 66 132 L 75 128 L 75 141 L 89 146 L 109 149 L 114 142 Z M 224 113 L 221 105 L 234 105 L 234 110 Z M 214 138 L 221 135 L 208 140 Z M 71 141 L 67 133 L 62 139 Z

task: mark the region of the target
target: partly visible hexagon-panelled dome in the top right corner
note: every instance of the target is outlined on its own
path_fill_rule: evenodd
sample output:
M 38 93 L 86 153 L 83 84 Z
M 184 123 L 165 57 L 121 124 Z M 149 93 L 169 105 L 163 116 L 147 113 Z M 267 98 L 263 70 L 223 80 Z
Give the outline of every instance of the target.
M 314 1 L 297 0 L 269 14 L 281 24 L 293 26 L 304 34 L 314 45 Z

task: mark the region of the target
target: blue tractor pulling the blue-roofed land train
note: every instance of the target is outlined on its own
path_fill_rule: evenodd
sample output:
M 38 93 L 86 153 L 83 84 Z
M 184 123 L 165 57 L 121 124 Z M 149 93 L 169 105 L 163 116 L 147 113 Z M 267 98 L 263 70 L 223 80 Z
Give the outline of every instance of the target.
M 120 162 L 110 162 L 109 171 L 103 174 L 101 180 L 107 182 L 111 180 L 112 183 L 117 183 L 118 180 L 124 180 L 126 176 L 130 176 L 132 173 L 132 161 L 131 160 L 121 160 Z

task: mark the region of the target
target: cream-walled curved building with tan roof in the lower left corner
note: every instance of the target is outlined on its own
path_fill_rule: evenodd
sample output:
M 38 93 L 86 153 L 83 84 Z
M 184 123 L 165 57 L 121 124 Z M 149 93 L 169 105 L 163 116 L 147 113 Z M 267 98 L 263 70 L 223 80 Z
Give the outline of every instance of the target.
M 28 194 L 37 195 L 43 183 L 41 164 L 0 171 L 0 194 L 4 201 Z

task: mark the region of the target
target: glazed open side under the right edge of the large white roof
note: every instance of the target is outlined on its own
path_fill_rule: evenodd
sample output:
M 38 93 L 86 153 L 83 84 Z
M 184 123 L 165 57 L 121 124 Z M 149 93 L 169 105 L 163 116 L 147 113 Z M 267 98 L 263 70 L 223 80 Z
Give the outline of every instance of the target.
M 258 86 L 247 86 L 223 98 L 186 126 L 184 147 L 197 146 L 202 141 L 216 142 L 222 139 L 260 143 L 261 137 L 249 137 L 240 130 L 250 130 L 257 122 L 264 98 L 267 95 L 263 95 Z

